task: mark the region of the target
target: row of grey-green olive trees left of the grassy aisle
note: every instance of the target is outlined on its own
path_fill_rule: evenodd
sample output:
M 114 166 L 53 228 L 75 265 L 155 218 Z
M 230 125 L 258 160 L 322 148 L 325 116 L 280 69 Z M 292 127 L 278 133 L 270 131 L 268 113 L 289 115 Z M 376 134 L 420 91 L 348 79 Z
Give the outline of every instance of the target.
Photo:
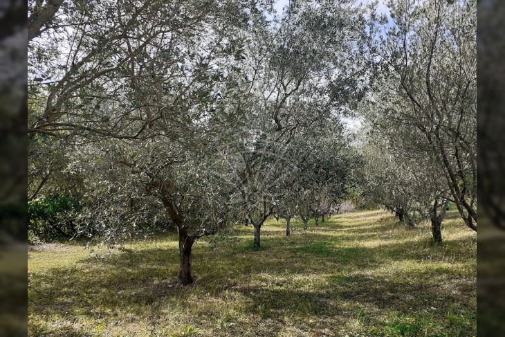
M 270 215 L 288 234 L 293 216 L 306 227 L 345 193 L 357 158 L 340 116 L 374 69 L 362 8 L 29 5 L 28 198 L 37 211 L 54 194 L 77 196 L 72 235 L 113 242 L 173 224 L 189 284 L 200 237 L 245 223 L 259 247 Z

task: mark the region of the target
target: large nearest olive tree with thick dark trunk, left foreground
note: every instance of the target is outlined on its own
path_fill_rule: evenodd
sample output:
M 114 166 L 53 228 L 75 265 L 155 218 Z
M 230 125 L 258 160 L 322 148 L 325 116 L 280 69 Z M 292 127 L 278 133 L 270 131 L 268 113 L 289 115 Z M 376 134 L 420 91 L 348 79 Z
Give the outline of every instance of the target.
M 178 278 L 191 283 L 193 243 L 233 218 L 217 136 L 231 128 L 221 102 L 235 93 L 235 33 L 254 10 L 237 1 L 73 6 L 66 24 L 32 41 L 30 96 L 41 104 L 30 138 L 63 141 L 73 158 L 65 170 L 86 179 L 89 233 L 113 240 L 170 219 Z

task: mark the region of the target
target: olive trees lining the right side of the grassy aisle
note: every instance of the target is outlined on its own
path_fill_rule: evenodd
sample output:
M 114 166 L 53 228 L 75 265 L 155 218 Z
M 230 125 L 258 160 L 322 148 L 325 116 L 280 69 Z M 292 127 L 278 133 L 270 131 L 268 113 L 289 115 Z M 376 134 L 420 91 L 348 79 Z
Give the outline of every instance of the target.
M 441 244 L 448 202 L 477 230 L 476 3 L 390 1 L 378 35 L 385 67 L 364 109 L 368 197 Z

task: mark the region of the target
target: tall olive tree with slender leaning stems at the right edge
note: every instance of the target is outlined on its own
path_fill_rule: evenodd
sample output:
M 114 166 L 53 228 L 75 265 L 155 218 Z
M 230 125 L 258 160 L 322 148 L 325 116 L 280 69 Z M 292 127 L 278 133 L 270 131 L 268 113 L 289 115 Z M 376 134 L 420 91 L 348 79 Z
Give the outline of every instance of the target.
M 378 37 L 387 80 L 377 119 L 405 127 L 428 150 L 466 226 L 477 230 L 476 1 L 390 1 L 394 21 Z M 384 107 L 383 109 L 381 107 Z M 430 161 L 427 159 L 427 161 Z M 419 163 L 422 165 L 422 163 Z

